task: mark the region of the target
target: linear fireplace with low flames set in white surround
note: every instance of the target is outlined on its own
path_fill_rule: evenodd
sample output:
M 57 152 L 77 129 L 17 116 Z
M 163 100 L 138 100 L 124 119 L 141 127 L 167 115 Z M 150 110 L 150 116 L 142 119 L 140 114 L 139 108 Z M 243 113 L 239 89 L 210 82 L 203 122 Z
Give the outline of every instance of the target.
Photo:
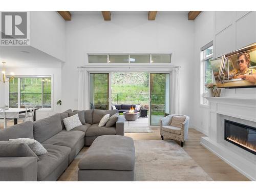
M 256 127 L 225 119 L 225 140 L 256 155 Z

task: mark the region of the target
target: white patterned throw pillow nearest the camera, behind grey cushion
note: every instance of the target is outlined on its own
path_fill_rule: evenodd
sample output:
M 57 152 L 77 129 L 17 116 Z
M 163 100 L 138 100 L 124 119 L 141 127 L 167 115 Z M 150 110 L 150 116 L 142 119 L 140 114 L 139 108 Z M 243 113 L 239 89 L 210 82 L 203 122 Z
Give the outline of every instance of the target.
M 17 143 L 26 143 L 29 145 L 31 150 L 37 155 L 44 155 L 47 153 L 47 150 L 44 146 L 42 146 L 41 143 L 39 143 L 37 140 L 30 139 L 30 138 L 17 138 L 17 139 L 9 139 L 9 141 L 14 141 Z

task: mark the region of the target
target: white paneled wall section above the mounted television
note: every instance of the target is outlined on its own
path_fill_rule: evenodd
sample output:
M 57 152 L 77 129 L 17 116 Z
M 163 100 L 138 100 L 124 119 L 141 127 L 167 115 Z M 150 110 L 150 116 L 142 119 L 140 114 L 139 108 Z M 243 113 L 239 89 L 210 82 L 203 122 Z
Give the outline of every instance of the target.
M 214 56 L 219 57 L 256 42 L 255 11 L 216 11 Z

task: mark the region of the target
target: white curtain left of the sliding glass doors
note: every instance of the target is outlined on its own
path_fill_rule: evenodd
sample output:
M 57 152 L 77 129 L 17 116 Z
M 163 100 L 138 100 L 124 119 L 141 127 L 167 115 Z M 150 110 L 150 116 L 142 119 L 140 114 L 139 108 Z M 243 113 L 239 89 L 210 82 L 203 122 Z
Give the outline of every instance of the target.
M 78 69 L 78 110 L 84 110 L 86 108 L 86 69 Z

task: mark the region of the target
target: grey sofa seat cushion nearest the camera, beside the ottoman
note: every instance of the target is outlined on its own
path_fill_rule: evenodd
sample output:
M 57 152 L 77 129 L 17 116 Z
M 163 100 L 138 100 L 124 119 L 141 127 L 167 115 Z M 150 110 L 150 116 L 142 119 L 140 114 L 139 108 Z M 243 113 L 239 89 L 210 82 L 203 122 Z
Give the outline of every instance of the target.
M 58 146 L 52 144 L 42 144 L 48 153 L 38 156 L 39 161 L 37 162 L 37 180 L 42 181 L 47 176 L 52 174 L 55 169 L 63 162 L 69 163 L 68 157 L 71 152 L 70 147 Z

